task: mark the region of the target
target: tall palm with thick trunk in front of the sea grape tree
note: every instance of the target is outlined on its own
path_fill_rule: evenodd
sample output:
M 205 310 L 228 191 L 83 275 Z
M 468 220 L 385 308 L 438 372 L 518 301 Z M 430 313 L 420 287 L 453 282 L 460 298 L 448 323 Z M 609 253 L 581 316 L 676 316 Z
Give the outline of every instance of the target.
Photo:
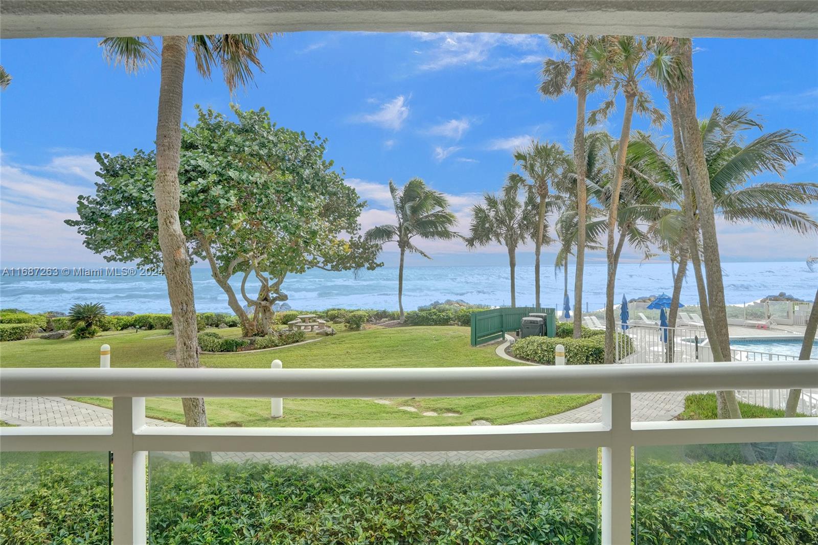
M 199 367 L 196 339 L 196 304 L 191 280 L 191 259 L 179 223 L 179 155 L 182 146 L 182 87 L 188 47 L 196 69 L 209 78 L 220 65 L 227 88 L 243 86 L 253 79 L 252 66 L 262 70 L 258 50 L 269 46 L 272 34 L 207 34 L 164 36 L 161 55 L 150 37 L 104 38 L 100 42 L 106 59 L 123 65 L 128 72 L 154 65 L 160 55 L 159 114 L 156 120 L 156 179 L 154 192 L 159 219 L 159 242 L 163 271 L 168 283 L 173 332 L 176 337 L 177 367 Z M 183 398 L 187 426 L 207 426 L 205 400 Z M 191 454 L 204 462 L 205 454 Z

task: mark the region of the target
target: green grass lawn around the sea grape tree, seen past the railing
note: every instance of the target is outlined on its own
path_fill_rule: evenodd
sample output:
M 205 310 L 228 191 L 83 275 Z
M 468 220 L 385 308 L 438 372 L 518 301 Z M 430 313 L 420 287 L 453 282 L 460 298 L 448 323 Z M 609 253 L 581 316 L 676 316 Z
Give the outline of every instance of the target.
M 238 328 L 219 330 L 238 336 Z M 256 353 L 203 354 L 205 367 L 269 368 L 281 359 L 285 368 L 342 367 L 487 367 L 515 366 L 498 358 L 495 346 L 472 348 L 467 327 L 375 328 L 321 337 L 313 343 Z M 309 335 L 308 338 L 315 338 Z M 89 340 L 29 339 L 0 345 L 2 367 L 98 367 L 99 347 L 111 347 L 111 367 L 173 367 L 166 354 L 173 350 L 167 331 L 107 332 Z M 524 396 L 502 398 L 392 399 L 390 405 L 370 399 L 285 399 L 285 417 L 269 417 L 268 399 L 207 399 L 211 426 L 463 426 L 474 420 L 511 424 L 577 408 L 596 395 Z M 110 399 L 80 398 L 110 407 Z M 408 412 L 398 407 L 414 407 Z M 421 413 L 434 411 L 438 417 Z M 444 417 L 443 412 L 456 412 Z M 179 399 L 146 401 L 149 417 L 183 422 Z

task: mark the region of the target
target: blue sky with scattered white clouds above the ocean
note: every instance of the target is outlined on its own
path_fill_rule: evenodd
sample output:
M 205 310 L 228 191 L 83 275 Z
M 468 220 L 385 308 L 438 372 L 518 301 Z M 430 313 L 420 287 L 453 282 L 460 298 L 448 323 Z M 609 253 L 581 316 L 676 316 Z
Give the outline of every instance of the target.
M 14 77 L 0 95 L 4 266 L 101 263 L 62 219 L 74 215 L 76 195 L 92 192 L 94 152 L 153 146 L 158 68 L 125 74 L 106 64 L 97 42 L 0 43 L 0 62 Z M 752 106 L 766 129 L 791 128 L 807 138 L 785 179 L 818 179 L 818 42 L 697 39 L 694 47 L 699 115 L 715 105 Z M 537 94 L 540 63 L 553 55 L 538 35 L 285 34 L 261 53 L 265 71 L 256 84 L 234 97 L 220 76 L 202 79 L 189 62 L 183 118 L 196 119 L 195 104 L 222 111 L 230 101 L 264 106 L 278 124 L 329 138 L 327 156 L 369 201 L 365 227 L 391 220 L 389 179 L 420 177 L 450 196 L 465 230 L 470 206 L 483 191 L 497 191 L 513 169 L 515 146 L 531 138 L 566 147 L 573 141 L 573 97 L 543 101 Z M 654 97 L 663 105 L 660 93 Z M 589 107 L 601 98 L 591 97 Z M 605 127 L 618 134 L 620 120 L 617 112 Z M 637 119 L 634 128 L 648 124 Z M 434 262 L 411 263 L 507 259 L 499 247 L 467 252 L 433 241 L 425 249 Z M 519 263 L 533 260 L 529 250 L 519 252 Z M 726 260 L 800 260 L 818 253 L 818 239 L 723 225 L 721 251 Z M 393 262 L 392 254 L 385 257 Z

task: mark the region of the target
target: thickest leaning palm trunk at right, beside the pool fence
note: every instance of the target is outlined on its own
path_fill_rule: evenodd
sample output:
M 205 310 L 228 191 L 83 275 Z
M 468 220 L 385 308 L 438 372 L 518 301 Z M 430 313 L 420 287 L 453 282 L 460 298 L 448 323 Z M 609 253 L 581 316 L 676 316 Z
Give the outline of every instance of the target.
M 711 347 L 718 347 L 718 351 L 713 352 L 714 361 L 723 362 L 730 360 L 730 329 L 727 327 L 727 309 L 724 299 L 724 282 L 721 277 L 721 256 L 718 248 L 716 214 L 710 187 L 710 174 L 708 173 L 707 160 L 704 157 L 699 122 L 696 118 L 692 42 L 682 40 L 679 42 L 679 48 L 687 77 L 676 91 L 676 96 L 681 122 L 681 139 L 685 149 L 685 164 L 696 196 L 699 210 L 699 229 L 702 233 L 704 274 L 707 278 L 708 309 L 710 311 L 710 321 L 712 322 L 712 333 L 708 331 L 708 342 Z M 717 352 L 720 354 L 717 354 Z M 738 401 L 735 399 L 735 392 L 725 391 L 719 393 L 719 395 L 724 400 L 724 403 L 720 403 L 721 414 L 719 416 L 726 417 L 729 413 L 731 418 L 741 418 L 741 410 Z M 726 409 L 726 412 L 724 409 Z

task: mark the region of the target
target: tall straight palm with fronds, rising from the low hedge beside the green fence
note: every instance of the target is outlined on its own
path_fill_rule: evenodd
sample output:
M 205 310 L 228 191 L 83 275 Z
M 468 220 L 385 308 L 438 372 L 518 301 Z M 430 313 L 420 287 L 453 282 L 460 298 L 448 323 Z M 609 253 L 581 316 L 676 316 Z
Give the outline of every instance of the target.
M 585 187 L 587 170 L 585 169 L 585 103 L 588 92 L 588 71 L 591 62 L 587 56 L 588 45 L 595 38 L 581 35 L 549 34 L 551 43 L 567 56 L 567 59 L 546 59 L 542 63 L 542 83 L 540 92 L 543 97 L 556 98 L 568 92 L 569 88 L 577 95 L 577 122 L 573 133 L 573 162 L 577 165 L 577 215 L 578 223 L 587 222 L 588 196 Z M 573 75 L 572 75 L 573 71 Z M 582 275 L 585 267 L 585 232 L 578 231 L 577 264 L 573 283 L 573 336 L 582 335 Z M 567 272 L 566 272 L 567 273 Z M 577 310 L 579 309 L 579 310 Z

